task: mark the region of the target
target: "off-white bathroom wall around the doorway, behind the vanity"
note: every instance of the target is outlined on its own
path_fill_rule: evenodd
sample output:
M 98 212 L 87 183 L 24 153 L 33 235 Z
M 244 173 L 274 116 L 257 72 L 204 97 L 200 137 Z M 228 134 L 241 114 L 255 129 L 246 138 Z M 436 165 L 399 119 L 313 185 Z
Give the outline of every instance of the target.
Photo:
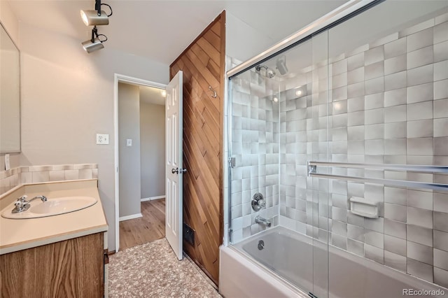
M 3 1 L 0 1 L 3 2 Z M 87 54 L 78 39 L 20 24 L 21 165 L 97 163 L 99 195 L 115 249 L 113 75 L 168 83 L 169 66 L 107 48 Z M 95 134 L 109 134 L 96 145 Z

